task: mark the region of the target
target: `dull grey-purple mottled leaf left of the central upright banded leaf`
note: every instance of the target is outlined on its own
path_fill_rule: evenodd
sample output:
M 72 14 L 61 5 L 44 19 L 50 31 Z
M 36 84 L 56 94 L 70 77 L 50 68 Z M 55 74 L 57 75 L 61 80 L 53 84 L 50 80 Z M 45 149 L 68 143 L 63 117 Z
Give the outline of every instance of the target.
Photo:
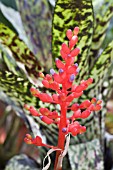
M 47 0 L 16 0 L 23 26 L 27 33 L 31 49 L 48 71 L 52 66 L 51 25 L 52 15 Z

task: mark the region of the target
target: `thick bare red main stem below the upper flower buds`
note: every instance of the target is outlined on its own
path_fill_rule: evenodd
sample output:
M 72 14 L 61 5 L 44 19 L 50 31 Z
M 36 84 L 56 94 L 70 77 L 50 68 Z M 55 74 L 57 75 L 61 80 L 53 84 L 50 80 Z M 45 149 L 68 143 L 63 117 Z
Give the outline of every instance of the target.
M 66 127 L 67 105 L 65 102 L 62 102 L 60 107 L 61 107 L 61 117 L 60 117 L 60 124 L 59 124 L 58 148 L 60 148 L 63 151 L 65 146 L 65 133 L 62 132 L 62 128 Z M 58 158 L 62 151 L 56 151 L 54 170 L 62 170 L 62 167 L 56 169 L 58 164 Z

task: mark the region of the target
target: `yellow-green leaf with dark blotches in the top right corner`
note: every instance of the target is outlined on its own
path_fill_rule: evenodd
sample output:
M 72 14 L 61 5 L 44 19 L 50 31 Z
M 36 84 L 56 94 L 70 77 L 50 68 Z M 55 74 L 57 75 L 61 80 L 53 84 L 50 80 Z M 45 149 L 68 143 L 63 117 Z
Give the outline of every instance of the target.
M 96 2 L 96 3 L 95 3 Z M 94 0 L 95 25 L 94 35 L 92 39 L 90 51 L 90 68 L 96 62 L 100 48 L 102 48 L 103 41 L 106 36 L 107 29 L 110 25 L 110 20 L 113 17 L 113 1 L 104 0 L 100 6 L 100 2 Z M 98 10 L 97 10 L 98 5 Z M 108 33 L 109 34 L 109 33 Z M 105 40 L 106 41 L 106 40 Z

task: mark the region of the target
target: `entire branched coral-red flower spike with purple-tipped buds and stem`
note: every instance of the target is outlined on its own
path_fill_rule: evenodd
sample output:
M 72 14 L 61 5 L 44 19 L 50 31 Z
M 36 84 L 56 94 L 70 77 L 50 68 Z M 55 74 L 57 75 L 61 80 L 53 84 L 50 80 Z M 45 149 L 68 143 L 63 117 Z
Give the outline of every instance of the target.
M 58 73 L 56 73 L 54 69 L 50 69 L 50 74 L 46 74 L 46 76 L 40 73 L 44 87 L 54 90 L 55 93 L 49 95 L 47 93 L 41 93 L 33 87 L 30 89 L 32 95 L 39 98 L 42 102 L 59 104 L 60 114 L 57 111 L 50 111 L 47 108 L 40 108 L 37 111 L 34 107 L 29 107 L 25 104 L 25 108 L 30 111 L 32 116 L 39 117 L 48 125 L 54 123 L 58 126 L 59 134 L 57 146 L 44 144 L 41 137 L 36 136 L 32 138 L 30 134 L 26 134 L 24 139 L 27 144 L 44 146 L 56 150 L 54 170 L 62 169 L 62 159 L 65 155 L 65 150 L 67 150 L 65 147 L 66 136 L 68 134 L 76 136 L 86 131 L 86 127 L 80 125 L 77 119 L 85 119 L 91 112 L 101 109 L 102 101 L 97 101 L 96 98 L 93 98 L 91 101 L 85 100 L 81 104 L 72 104 L 72 101 L 75 98 L 79 98 L 83 94 L 83 91 L 93 82 L 93 79 L 89 78 L 88 80 L 82 80 L 79 85 L 74 83 L 75 77 L 79 73 L 78 64 L 74 63 L 75 57 L 77 57 L 80 52 L 79 48 L 74 48 L 78 42 L 78 32 L 79 27 L 75 27 L 74 31 L 69 29 L 66 32 L 69 43 L 68 45 L 63 43 L 60 50 L 61 57 L 64 61 L 58 58 L 55 60 L 56 66 L 59 69 Z M 72 111 L 72 116 L 67 116 L 68 111 Z M 67 143 L 69 143 L 69 140 Z

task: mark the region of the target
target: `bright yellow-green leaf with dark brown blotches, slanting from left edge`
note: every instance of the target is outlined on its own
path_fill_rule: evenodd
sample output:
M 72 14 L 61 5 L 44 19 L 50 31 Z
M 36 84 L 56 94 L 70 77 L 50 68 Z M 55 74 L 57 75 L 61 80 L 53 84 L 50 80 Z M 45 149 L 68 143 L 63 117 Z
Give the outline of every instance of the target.
M 24 64 L 30 76 L 38 77 L 38 73 L 42 69 L 40 62 L 26 44 L 3 24 L 0 24 L 0 43 L 10 49 L 16 61 Z

